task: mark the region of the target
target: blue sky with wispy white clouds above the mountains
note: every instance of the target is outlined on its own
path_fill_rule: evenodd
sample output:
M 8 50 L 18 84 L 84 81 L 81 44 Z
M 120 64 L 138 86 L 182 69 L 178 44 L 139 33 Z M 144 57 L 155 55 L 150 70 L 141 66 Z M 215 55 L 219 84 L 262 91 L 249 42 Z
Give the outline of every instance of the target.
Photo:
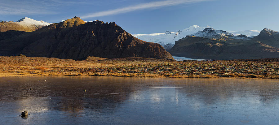
M 0 0 L 0 20 L 116 22 L 133 34 L 177 32 L 192 25 L 226 31 L 279 31 L 279 0 Z

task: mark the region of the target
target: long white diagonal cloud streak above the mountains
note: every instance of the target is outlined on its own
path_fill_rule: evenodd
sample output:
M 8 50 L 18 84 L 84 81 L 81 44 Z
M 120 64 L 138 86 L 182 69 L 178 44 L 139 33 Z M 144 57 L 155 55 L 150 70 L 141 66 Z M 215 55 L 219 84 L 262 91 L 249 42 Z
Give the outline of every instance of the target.
M 174 6 L 178 4 L 191 4 L 191 3 L 204 2 L 204 1 L 212 1 L 212 0 L 166 0 L 166 1 L 158 1 L 158 2 L 148 2 L 148 3 L 142 3 L 134 6 L 117 8 L 114 10 L 100 11 L 100 12 L 81 16 L 81 18 L 85 19 L 85 18 L 93 18 L 93 17 L 100 17 L 100 16 L 107 16 L 107 15 L 116 15 L 116 14 L 127 13 L 131 11 L 137 11 L 137 10 L 143 10 L 149 8 L 154 9 L 154 8 L 160 8 L 164 6 Z

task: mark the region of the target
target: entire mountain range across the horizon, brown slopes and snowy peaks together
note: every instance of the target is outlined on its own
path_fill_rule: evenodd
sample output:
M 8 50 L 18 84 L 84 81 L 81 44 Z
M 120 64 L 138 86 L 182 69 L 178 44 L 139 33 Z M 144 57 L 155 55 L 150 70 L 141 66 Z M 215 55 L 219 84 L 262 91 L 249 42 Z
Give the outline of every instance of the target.
M 0 22 L 0 55 L 18 54 L 74 60 L 88 56 L 173 60 L 172 55 L 196 59 L 278 58 L 279 33 L 267 28 L 227 32 L 193 25 L 178 32 L 130 34 L 115 23 L 87 22 L 78 17 L 54 24 L 27 17 Z

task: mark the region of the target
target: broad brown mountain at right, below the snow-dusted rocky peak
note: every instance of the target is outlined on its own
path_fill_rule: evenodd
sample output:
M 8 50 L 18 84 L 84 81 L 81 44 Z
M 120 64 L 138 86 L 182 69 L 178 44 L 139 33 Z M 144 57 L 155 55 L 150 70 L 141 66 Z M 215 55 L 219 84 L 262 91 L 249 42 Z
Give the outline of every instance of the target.
M 265 28 L 256 37 L 224 37 L 222 34 L 218 38 L 216 35 L 214 38 L 189 35 L 176 41 L 169 52 L 173 56 L 202 59 L 279 58 L 279 33 L 276 31 Z

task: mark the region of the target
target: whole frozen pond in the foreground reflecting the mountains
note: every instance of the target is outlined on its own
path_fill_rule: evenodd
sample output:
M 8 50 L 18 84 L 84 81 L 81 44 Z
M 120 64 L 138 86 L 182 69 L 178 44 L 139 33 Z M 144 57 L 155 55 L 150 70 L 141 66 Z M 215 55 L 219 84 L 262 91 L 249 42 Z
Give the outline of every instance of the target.
M 0 124 L 277 124 L 278 84 L 259 79 L 3 77 Z M 21 118 L 25 110 L 30 115 Z

